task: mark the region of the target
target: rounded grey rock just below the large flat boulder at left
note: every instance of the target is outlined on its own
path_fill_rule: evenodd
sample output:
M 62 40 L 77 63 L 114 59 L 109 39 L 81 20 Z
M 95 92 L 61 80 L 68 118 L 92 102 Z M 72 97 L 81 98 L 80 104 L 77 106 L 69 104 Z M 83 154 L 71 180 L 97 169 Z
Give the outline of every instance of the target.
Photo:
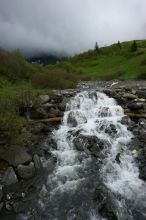
M 31 162 L 29 165 L 18 165 L 17 167 L 18 176 L 22 179 L 29 179 L 35 175 L 34 163 Z

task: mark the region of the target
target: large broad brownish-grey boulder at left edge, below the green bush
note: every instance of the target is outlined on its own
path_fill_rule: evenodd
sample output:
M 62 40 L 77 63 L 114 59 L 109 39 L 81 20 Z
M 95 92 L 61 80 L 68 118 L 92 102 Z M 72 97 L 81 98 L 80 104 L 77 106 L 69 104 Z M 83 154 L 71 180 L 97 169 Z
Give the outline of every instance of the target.
M 31 161 L 32 157 L 24 147 L 0 148 L 0 159 L 7 161 L 12 166 L 24 164 Z

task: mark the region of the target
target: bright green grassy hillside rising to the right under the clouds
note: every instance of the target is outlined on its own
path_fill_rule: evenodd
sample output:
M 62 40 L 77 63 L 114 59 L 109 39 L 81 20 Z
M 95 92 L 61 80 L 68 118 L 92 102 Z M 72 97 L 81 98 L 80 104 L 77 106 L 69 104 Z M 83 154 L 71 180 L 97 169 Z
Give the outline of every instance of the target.
M 59 66 L 74 70 L 90 80 L 145 79 L 146 40 L 137 40 L 137 50 L 133 52 L 132 44 L 133 41 L 129 41 L 102 47 L 99 52 L 89 50 Z

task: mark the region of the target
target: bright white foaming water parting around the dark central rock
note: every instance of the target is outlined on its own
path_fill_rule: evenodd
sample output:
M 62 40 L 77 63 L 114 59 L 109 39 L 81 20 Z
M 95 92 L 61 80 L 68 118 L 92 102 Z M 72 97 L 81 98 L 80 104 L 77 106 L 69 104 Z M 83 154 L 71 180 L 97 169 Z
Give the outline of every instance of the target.
M 88 160 L 85 153 L 74 148 L 74 136 L 70 133 L 96 136 L 105 141 L 103 165 L 100 175 L 104 184 L 112 191 L 132 199 L 142 197 L 144 182 L 139 179 L 139 170 L 134 162 L 134 156 L 128 145 L 132 133 L 121 123 L 124 116 L 123 109 L 113 98 L 100 92 L 82 92 L 77 94 L 67 104 L 63 123 L 54 132 L 57 150 L 53 154 L 57 157 L 57 167 L 52 180 L 57 183 L 56 188 L 75 188 L 83 178 L 80 170 L 84 170 Z M 80 156 L 84 159 L 80 160 Z M 97 171 L 97 175 L 98 171 Z

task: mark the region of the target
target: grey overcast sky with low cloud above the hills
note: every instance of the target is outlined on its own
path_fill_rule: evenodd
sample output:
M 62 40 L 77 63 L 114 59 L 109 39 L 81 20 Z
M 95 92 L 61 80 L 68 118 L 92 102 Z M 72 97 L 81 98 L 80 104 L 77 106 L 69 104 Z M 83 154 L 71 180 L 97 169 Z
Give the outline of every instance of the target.
M 146 38 L 146 0 L 0 0 L 0 47 L 74 54 Z

